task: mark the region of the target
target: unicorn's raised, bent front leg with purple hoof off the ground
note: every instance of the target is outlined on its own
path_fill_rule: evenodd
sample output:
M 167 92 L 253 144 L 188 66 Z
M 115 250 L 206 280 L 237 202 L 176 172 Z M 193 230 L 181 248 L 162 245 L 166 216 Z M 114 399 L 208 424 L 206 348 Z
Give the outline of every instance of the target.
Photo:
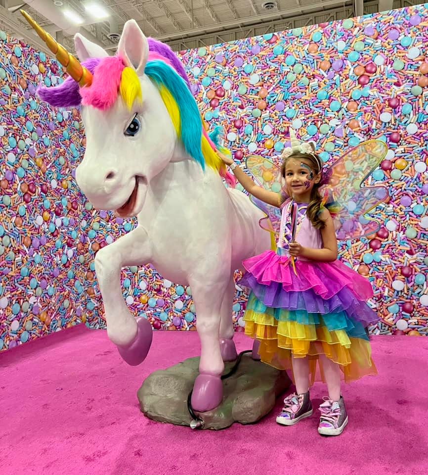
M 150 241 L 141 227 L 103 247 L 95 256 L 95 272 L 104 304 L 107 334 L 118 346 L 122 358 L 132 366 L 140 364 L 147 356 L 152 342 L 152 327 L 146 319 L 135 320 L 129 312 L 122 294 L 121 269 L 149 261 Z

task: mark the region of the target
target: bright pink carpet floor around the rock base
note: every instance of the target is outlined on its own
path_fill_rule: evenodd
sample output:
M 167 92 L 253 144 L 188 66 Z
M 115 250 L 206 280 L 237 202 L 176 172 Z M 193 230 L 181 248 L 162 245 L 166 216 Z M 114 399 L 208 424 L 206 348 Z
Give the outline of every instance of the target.
M 251 340 L 236 335 L 239 350 Z M 2 475 L 426 475 L 428 338 L 375 337 L 380 375 L 346 386 L 342 436 L 275 410 L 251 426 L 192 431 L 146 419 L 136 391 L 153 371 L 198 355 L 195 332 L 155 332 L 127 366 L 104 331 L 76 327 L 0 354 Z M 316 384 L 316 407 L 325 394 Z M 317 412 L 317 411 L 315 411 Z

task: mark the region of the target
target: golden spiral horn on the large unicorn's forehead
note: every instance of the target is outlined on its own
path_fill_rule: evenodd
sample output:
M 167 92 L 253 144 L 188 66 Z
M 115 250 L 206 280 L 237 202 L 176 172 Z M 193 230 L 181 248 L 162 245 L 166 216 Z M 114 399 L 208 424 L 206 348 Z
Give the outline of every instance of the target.
M 82 66 L 80 62 L 70 54 L 62 45 L 57 43 L 49 33 L 36 23 L 33 18 L 24 10 L 20 10 L 22 16 L 36 30 L 40 38 L 46 43 L 46 46 L 55 54 L 56 59 L 65 67 L 67 73 L 79 83 L 81 87 L 90 86 L 92 83 L 92 74 Z

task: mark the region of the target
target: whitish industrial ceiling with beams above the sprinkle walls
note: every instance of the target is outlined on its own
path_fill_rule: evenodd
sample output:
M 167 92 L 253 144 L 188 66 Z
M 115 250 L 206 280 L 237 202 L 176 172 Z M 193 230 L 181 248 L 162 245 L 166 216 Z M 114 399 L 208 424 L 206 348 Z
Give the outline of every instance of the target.
M 98 23 L 88 17 L 85 1 L 101 4 L 109 17 Z M 302 24 L 353 16 L 363 0 L 0 0 L 0 24 L 6 32 L 42 48 L 19 13 L 25 9 L 43 28 L 73 51 L 73 36 L 80 31 L 90 40 L 112 51 L 124 23 L 133 18 L 147 36 L 169 43 L 173 49 L 197 47 L 221 41 L 244 38 L 257 33 L 254 27 L 279 31 L 293 27 L 291 18 L 301 18 Z M 379 0 L 390 8 L 423 3 L 418 0 Z M 62 3 L 62 5 L 61 5 Z M 62 10 L 73 9 L 84 18 L 84 24 L 74 26 Z M 364 3 L 366 13 L 378 11 L 378 0 Z M 321 15 L 321 16 L 320 16 Z M 287 23 L 288 21 L 288 23 Z M 282 22 L 282 23 L 281 23 Z M 286 23 L 284 23 L 286 22 Z M 251 27 L 251 28 L 250 28 Z M 44 49 L 44 48 L 43 48 Z

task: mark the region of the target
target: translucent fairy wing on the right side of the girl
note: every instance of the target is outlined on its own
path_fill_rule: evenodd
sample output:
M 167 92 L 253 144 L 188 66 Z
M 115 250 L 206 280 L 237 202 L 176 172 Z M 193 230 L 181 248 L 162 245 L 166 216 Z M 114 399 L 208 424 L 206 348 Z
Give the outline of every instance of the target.
M 371 186 L 371 174 L 387 151 L 385 142 L 369 140 L 348 150 L 330 167 L 330 182 L 323 188 L 337 204 L 334 218 L 339 240 L 362 238 L 379 231 L 381 223 L 369 213 L 385 201 L 388 191 L 382 185 Z

